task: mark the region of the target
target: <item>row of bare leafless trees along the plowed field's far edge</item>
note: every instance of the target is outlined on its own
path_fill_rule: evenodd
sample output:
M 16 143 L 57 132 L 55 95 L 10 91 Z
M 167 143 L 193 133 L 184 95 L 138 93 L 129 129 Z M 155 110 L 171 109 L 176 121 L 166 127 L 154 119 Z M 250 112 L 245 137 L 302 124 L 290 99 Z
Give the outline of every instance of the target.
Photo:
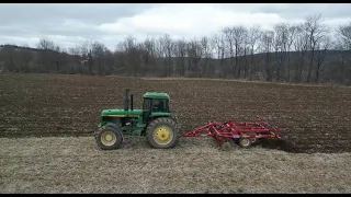
M 302 23 L 228 26 L 214 35 L 137 40 L 127 36 L 110 50 L 100 42 L 69 49 L 41 39 L 36 48 L 0 46 L 10 72 L 234 78 L 294 83 L 351 84 L 351 22 L 336 30 L 321 14 Z

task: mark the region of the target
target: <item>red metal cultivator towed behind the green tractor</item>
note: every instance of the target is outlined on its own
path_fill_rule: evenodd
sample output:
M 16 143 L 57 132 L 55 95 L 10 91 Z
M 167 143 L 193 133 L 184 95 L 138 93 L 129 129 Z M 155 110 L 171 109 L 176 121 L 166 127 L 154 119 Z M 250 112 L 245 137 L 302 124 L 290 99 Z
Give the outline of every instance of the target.
M 230 142 L 236 141 L 242 148 L 249 148 L 262 138 L 275 138 L 281 140 L 278 127 L 272 127 L 259 116 L 256 123 L 210 123 L 193 131 L 182 135 L 183 138 L 212 136 L 218 140 L 219 146 L 227 150 Z

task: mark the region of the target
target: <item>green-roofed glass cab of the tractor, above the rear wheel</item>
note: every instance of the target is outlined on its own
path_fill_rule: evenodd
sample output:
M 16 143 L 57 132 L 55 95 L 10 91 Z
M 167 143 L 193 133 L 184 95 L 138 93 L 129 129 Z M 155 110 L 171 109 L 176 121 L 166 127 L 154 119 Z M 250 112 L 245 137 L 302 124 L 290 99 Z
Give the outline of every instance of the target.
M 147 92 L 144 94 L 143 117 L 144 123 L 148 124 L 152 117 L 169 114 L 169 95 L 167 93 Z

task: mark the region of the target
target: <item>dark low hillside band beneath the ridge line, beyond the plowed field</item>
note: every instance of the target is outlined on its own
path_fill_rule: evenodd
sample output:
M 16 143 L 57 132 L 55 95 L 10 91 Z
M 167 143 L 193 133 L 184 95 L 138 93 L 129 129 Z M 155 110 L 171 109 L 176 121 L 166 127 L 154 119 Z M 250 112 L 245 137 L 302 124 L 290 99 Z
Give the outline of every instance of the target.
M 2 71 L 33 73 L 234 78 L 347 85 L 351 82 L 350 50 L 316 50 L 314 58 L 312 51 L 287 51 L 219 59 L 195 56 L 166 58 L 143 51 L 126 54 L 106 49 L 83 51 L 2 45 L 0 67 Z

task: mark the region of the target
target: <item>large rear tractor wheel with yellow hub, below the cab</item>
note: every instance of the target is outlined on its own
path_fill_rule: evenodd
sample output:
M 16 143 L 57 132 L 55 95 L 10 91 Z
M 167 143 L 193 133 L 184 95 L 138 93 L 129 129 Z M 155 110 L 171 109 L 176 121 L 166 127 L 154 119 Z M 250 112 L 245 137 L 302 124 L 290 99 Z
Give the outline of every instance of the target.
M 163 117 L 152 120 L 146 129 L 146 138 L 155 149 L 176 147 L 179 140 L 176 121 Z

